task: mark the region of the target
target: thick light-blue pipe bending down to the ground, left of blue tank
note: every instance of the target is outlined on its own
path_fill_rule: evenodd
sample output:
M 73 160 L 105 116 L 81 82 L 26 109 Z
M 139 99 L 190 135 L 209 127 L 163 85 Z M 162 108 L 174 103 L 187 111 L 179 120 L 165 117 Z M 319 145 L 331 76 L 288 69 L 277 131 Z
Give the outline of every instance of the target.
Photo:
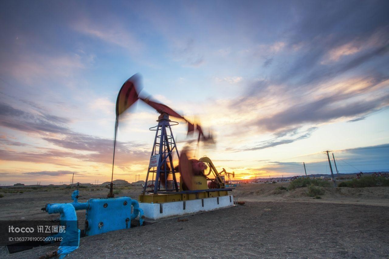
M 57 251 L 60 259 L 63 259 L 80 245 L 80 230 L 77 226 L 75 207 L 70 203 L 47 204 L 46 211 L 49 214 L 59 213 L 60 226 L 65 226 L 65 233 L 62 235 L 61 245 Z

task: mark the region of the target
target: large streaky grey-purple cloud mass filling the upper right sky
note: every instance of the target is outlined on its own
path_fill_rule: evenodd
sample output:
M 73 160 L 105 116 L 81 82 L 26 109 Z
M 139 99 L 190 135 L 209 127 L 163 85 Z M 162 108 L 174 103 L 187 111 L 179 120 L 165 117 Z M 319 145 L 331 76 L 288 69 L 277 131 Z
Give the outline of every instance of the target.
M 350 7 L 338 2 L 336 10 L 329 3 L 297 3 L 288 33 L 274 41 L 283 44 L 268 46 L 270 58 L 260 51 L 256 55 L 265 57 L 264 66 L 277 68 L 261 71 L 261 78 L 249 82 L 245 93 L 231 102 L 232 113 L 252 115 L 245 117 L 245 125 L 253 131 L 281 134 L 302 125 L 366 117 L 387 107 L 387 14 L 381 8 L 364 12 L 369 8 L 367 3 Z

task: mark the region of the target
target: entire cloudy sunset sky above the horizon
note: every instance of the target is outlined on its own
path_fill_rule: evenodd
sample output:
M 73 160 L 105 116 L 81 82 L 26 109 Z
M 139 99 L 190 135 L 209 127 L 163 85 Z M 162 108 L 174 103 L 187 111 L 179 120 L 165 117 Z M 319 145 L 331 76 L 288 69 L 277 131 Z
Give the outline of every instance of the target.
M 0 184 L 99 183 L 115 103 L 144 93 L 211 131 L 235 179 L 389 171 L 388 1 L 0 2 Z M 119 121 L 114 179 L 145 179 L 158 114 Z M 194 142 L 195 143 L 195 142 Z M 331 155 L 331 153 L 330 153 Z M 331 162 L 332 157 L 331 157 Z M 334 164 L 332 164 L 334 166 Z M 334 169 L 335 171 L 335 169 Z

